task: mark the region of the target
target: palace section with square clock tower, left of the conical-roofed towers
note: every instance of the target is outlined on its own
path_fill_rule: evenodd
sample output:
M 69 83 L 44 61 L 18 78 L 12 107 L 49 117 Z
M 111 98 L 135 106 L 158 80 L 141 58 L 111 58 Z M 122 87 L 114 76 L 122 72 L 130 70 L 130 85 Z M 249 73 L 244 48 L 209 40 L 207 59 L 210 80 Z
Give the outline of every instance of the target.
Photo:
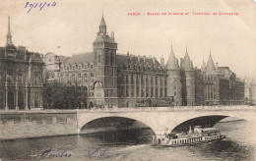
M 93 52 L 73 55 L 59 73 L 59 81 L 65 82 L 71 93 L 79 93 L 79 106 L 168 104 L 164 100 L 167 71 L 163 62 L 160 65 L 156 58 L 116 54 L 114 33 L 106 33 L 103 17 L 93 47 Z

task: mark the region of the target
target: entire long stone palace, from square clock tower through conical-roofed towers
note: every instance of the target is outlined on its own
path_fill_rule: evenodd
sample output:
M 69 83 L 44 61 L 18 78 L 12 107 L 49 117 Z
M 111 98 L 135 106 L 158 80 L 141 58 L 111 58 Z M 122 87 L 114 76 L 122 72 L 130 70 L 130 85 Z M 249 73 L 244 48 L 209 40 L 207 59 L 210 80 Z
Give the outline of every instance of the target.
M 172 47 L 166 64 L 163 58 L 159 62 L 156 58 L 135 56 L 129 52 L 118 54 L 114 33 L 111 32 L 110 36 L 107 34 L 103 17 L 93 48 L 93 52 L 63 58 L 65 61 L 61 62 L 55 55 L 52 56 L 57 60 L 51 68 L 55 80 L 57 76 L 57 80 L 64 82 L 71 93 L 78 93 L 77 101 L 71 102 L 71 106 L 88 108 L 244 103 L 244 82 L 238 80 L 228 67 L 215 65 L 211 52 L 207 65 L 203 64 L 201 69 L 193 67 L 187 50 L 179 64 Z M 49 57 L 48 54 L 44 57 L 46 64 Z M 51 78 L 46 77 L 46 80 Z

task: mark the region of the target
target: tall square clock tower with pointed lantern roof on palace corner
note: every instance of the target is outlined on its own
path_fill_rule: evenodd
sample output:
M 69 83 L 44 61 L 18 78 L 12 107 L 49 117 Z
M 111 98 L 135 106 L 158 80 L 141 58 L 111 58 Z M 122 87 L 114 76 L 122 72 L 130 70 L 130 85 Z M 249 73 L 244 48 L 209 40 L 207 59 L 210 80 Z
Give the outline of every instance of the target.
M 118 106 L 117 99 L 117 66 L 116 50 L 117 43 L 114 41 L 114 33 L 111 36 L 106 32 L 106 25 L 102 15 L 96 40 L 93 42 L 96 68 L 98 77 L 96 87 L 102 87 L 102 94 L 95 95 L 96 103 L 104 107 Z

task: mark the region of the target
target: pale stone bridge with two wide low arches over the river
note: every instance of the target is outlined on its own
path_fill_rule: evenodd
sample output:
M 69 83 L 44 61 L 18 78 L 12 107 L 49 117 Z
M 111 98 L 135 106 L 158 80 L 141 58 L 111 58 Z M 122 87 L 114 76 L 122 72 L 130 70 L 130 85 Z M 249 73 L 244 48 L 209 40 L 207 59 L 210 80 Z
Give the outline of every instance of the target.
M 189 126 L 214 127 L 226 117 L 256 123 L 255 106 L 191 106 L 77 110 L 78 134 L 86 125 L 104 118 L 141 122 L 155 134 L 184 132 Z

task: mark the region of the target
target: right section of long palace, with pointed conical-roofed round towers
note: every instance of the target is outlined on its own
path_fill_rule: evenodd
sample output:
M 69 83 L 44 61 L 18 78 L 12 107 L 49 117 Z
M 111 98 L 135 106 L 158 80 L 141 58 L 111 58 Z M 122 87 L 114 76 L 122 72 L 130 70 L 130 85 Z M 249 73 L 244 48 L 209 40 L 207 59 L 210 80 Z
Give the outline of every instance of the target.
M 179 67 L 171 48 L 166 68 L 169 72 L 168 95 L 174 96 L 174 104 L 244 104 L 244 82 L 237 79 L 228 67 L 216 66 L 210 51 L 207 65 L 203 63 L 201 70 L 194 68 L 186 51 L 184 58 L 180 59 Z

